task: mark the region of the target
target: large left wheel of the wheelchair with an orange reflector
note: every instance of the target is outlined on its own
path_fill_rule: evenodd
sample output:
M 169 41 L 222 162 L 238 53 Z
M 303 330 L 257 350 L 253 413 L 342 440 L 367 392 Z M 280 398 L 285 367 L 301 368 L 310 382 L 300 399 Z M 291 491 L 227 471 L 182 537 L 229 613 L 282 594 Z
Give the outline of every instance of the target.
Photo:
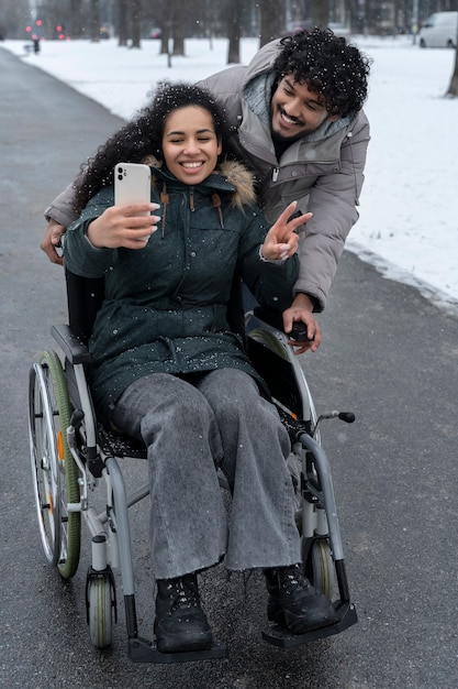
M 78 467 L 67 445 L 71 407 L 56 352 L 46 351 L 31 369 L 29 430 L 35 503 L 45 557 L 64 579 L 77 568 L 81 516 L 69 512 L 79 502 Z

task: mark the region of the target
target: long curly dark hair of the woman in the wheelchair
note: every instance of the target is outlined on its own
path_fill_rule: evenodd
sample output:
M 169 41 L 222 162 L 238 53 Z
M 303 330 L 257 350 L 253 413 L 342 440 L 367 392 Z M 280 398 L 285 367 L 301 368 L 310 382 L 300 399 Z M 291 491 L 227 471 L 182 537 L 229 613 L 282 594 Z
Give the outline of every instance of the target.
M 161 158 L 163 133 L 167 116 L 188 106 L 198 106 L 210 112 L 215 134 L 224 144 L 228 139 L 223 111 L 214 97 L 204 88 L 179 81 L 161 81 L 153 99 L 137 116 L 119 129 L 99 149 L 75 181 L 74 209 L 77 214 L 86 207 L 97 192 L 113 184 L 113 169 L 120 162 L 142 163 L 148 156 Z

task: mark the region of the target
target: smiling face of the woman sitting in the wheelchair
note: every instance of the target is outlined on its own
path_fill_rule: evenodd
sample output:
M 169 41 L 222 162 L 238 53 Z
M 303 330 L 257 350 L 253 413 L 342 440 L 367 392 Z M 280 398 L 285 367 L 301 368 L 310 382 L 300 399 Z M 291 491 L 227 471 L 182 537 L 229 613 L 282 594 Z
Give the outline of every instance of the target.
M 167 116 L 163 133 L 163 155 L 168 171 L 180 182 L 197 185 L 217 164 L 221 141 L 211 113 L 200 106 L 187 106 Z

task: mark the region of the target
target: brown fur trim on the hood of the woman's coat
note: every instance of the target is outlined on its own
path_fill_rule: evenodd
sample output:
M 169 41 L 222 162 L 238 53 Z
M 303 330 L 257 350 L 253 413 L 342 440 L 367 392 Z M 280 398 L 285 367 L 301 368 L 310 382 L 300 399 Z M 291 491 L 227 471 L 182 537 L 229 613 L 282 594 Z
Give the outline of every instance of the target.
M 164 168 L 163 163 L 154 155 L 147 156 L 144 161 L 145 165 L 149 165 L 152 169 L 152 186 L 158 187 L 159 184 L 171 175 Z M 159 177 L 160 181 L 159 182 Z M 255 182 L 253 173 L 238 161 L 223 160 L 216 169 L 202 183 L 205 186 L 214 188 L 215 193 L 226 192 L 233 193 L 232 205 L 243 209 L 256 203 Z

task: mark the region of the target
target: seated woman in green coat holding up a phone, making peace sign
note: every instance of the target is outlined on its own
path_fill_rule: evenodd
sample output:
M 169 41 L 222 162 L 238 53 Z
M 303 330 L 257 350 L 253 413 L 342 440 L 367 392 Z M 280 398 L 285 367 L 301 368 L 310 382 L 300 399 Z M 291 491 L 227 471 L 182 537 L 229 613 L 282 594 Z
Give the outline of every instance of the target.
M 161 85 L 81 172 L 81 215 L 65 236 L 67 267 L 105 281 L 89 343 L 98 418 L 147 447 L 163 653 L 212 646 L 197 573 L 222 558 L 228 570 L 264 570 L 268 619 L 292 634 L 337 619 L 299 565 L 288 433 L 227 322 L 235 275 L 261 305 L 290 305 L 294 230 L 310 214 L 290 219 L 291 204 L 268 229 L 250 173 L 222 157 L 225 141 L 206 91 Z M 150 165 L 160 215 L 113 205 L 120 161 Z M 217 468 L 231 486 L 230 527 Z

